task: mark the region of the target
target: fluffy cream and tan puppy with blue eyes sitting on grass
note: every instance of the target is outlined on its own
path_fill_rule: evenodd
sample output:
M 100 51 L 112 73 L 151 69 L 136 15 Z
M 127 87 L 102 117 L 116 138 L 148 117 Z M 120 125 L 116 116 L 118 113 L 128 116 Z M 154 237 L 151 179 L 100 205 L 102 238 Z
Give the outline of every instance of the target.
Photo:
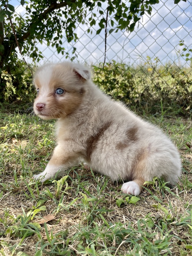
M 57 146 L 35 179 L 44 182 L 83 161 L 112 181 L 130 180 L 121 188 L 126 194 L 139 195 L 143 183 L 153 177 L 177 182 L 181 162 L 172 141 L 101 92 L 89 68 L 71 62 L 45 64 L 37 70 L 34 84 L 35 114 L 58 119 Z

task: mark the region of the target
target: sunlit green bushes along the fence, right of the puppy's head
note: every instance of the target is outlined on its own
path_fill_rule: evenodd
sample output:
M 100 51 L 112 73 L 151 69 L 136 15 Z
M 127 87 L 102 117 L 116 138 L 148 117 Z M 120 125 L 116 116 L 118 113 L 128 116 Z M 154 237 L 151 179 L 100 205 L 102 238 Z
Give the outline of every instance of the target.
M 158 59 L 157 59 L 158 60 Z M 190 115 L 192 74 L 174 64 L 157 65 L 148 61 L 139 67 L 112 61 L 93 66 L 93 81 L 116 100 L 133 110 L 148 114 Z

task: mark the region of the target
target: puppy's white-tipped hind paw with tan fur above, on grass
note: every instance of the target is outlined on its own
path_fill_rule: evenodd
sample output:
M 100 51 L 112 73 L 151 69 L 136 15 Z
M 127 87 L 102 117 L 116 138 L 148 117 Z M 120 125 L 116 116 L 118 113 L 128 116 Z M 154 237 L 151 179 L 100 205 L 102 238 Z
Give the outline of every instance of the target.
M 121 190 L 125 194 L 130 194 L 130 195 L 138 196 L 140 194 L 141 190 L 142 190 L 142 186 L 143 186 L 144 182 L 145 182 L 145 180 L 142 179 L 142 178 L 125 182 L 122 185 Z

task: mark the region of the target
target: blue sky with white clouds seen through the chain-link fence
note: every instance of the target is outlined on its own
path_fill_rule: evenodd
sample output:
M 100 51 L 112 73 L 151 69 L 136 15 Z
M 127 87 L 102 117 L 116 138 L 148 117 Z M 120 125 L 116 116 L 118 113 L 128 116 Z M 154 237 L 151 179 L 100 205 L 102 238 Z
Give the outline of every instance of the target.
M 25 9 L 19 5 L 18 0 L 12 0 L 9 3 L 15 6 L 16 12 L 24 15 Z M 89 16 L 87 20 L 88 18 Z M 86 25 L 80 24 L 75 30 L 79 40 L 69 44 L 64 36 L 62 46 L 69 52 L 70 57 L 72 57 L 72 47 L 76 47 L 77 60 L 81 62 L 85 61 L 90 64 L 103 62 L 104 30 L 96 35 L 96 31 L 99 29 L 97 23 L 93 27 L 92 35 L 86 32 L 87 29 Z M 142 16 L 133 32 L 108 33 L 106 62 L 116 60 L 127 64 L 137 64 L 141 60 L 145 62 L 149 56 L 151 59 L 157 57 L 162 63 L 171 61 L 184 65 L 186 61 L 180 57 L 180 53 L 178 54 L 178 51 L 183 49 L 182 46 L 179 46 L 181 40 L 184 40 L 184 44 L 192 49 L 191 1 L 180 1 L 179 4 L 174 4 L 174 0 L 160 0 L 159 4 L 152 6 L 151 15 L 144 14 Z M 44 55 L 42 63 L 47 60 L 54 62 L 66 60 L 66 55 L 58 54 L 55 48 L 47 47 L 45 42 L 42 45 L 38 44 L 37 47 Z

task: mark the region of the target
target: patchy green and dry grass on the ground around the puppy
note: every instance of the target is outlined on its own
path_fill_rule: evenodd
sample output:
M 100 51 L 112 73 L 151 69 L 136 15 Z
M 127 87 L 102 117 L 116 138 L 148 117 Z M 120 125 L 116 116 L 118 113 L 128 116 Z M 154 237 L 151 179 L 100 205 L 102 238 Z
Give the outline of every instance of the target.
M 192 252 L 192 121 L 146 116 L 180 150 L 183 175 L 170 188 L 148 182 L 140 196 L 74 167 L 39 184 L 55 146 L 54 121 L 0 110 L 0 254 L 158 256 Z

